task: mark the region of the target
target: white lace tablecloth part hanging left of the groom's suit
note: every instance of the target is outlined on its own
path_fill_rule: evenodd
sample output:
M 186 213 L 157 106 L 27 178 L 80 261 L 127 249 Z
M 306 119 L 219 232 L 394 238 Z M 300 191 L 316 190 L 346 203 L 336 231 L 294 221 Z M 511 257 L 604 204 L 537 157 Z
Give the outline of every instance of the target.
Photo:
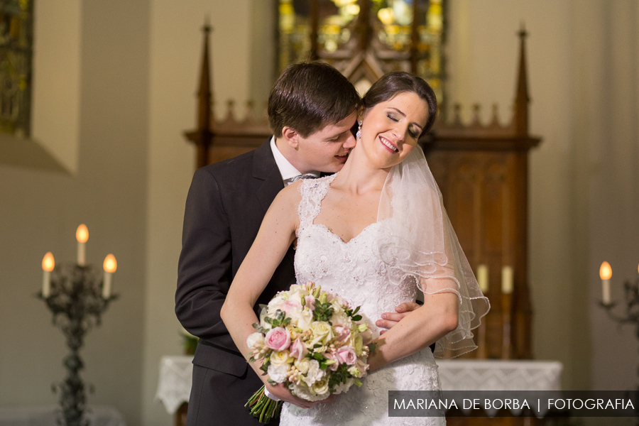
M 169 414 L 189 402 L 193 376 L 192 356 L 163 356 L 155 400 L 160 400 Z

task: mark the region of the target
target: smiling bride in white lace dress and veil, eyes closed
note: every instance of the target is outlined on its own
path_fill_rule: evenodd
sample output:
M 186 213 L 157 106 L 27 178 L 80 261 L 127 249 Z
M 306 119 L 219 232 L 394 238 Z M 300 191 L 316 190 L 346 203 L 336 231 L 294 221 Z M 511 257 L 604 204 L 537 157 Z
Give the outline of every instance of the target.
M 438 356 L 475 349 L 471 329 L 489 309 L 417 146 L 437 115 L 432 89 L 419 77 L 393 72 L 373 84 L 363 104 L 344 168 L 279 193 L 222 308 L 249 359 L 246 337 L 258 322 L 253 306 L 293 241 L 297 283 L 313 281 L 361 306 L 377 342 L 364 385 L 322 403 L 290 397 L 295 405 L 283 405 L 280 425 L 444 425 L 444 418 L 388 417 L 388 391 L 439 389 L 429 346 L 437 342 Z M 424 305 L 392 329 L 371 321 L 415 300 L 417 291 Z M 268 384 L 256 364 L 267 390 L 289 392 Z

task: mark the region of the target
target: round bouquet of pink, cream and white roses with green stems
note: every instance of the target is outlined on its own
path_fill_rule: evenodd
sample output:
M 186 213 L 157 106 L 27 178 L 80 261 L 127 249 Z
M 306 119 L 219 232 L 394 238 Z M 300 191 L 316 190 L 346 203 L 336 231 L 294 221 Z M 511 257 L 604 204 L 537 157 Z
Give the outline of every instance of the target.
M 246 339 L 249 362 L 263 360 L 261 370 L 271 384 L 285 383 L 293 395 L 309 401 L 361 386 L 366 359 L 374 344 L 364 345 L 366 324 L 358 324 L 359 307 L 351 309 L 339 297 L 315 283 L 291 285 L 268 305 L 261 305 L 256 332 Z M 278 415 L 281 401 L 264 395 L 264 386 L 246 405 L 261 422 Z

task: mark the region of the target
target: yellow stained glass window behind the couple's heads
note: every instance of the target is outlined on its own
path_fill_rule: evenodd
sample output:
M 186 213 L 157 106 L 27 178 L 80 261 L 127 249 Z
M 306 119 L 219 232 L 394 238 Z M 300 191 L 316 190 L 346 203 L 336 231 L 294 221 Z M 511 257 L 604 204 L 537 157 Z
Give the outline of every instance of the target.
M 405 70 L 427 80 L 442 102 L 443 2 L 279 0 L 280 70 L 322 59 L 344 71 L 358 49 L 366 50 L 383 72 Z

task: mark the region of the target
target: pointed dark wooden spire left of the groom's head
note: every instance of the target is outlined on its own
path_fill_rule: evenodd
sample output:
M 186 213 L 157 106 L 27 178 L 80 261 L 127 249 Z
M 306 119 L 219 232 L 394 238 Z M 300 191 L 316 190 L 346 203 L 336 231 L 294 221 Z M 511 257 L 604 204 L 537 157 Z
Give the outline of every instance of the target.
M 202 67 L 200 69 L 200 87 L 197 90 L 197 129 L 194 131 L 185 131 L 187 139 L 195 143 L 197 146 L 196 167 L 200 168 L 208 164 L 209 146 L 213 139 L 212 129 L 212 90 L 211 90 L 211 71 L 209 69 L 209 26 L 208 19 L 204 22 L 202 33 L 204 40 L 202 42 Z

